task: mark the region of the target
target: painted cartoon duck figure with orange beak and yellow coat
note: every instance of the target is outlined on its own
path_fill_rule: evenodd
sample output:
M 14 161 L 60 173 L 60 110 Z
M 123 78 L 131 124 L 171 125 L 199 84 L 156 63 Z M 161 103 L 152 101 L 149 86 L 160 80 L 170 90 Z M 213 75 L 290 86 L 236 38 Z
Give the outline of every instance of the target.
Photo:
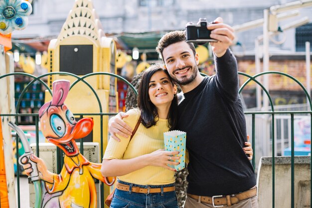
M 115 182 L 115 178 L 103 177 L 100 172 L 101 164 L 89 162 L 79 153 L 74 140 L 86 137 L 92 131 L 93 120 L 83 118 L 76 122 L 64 104 L 69 86 L 67 80 L 53 82 L 52 101 L 45 103 L 39 110 L 42 134 L 48 142 L 55 144 L 65 153 L 61 173 L 49 172 L 44 162 L 33 154 L 23 157 L 21 163 L 24 164 L 27 175 L 33 172 L 31 161 L 37 165 L 39 178 L 44 181 L 46 189 L 42 207 L 96 208 L 96 187 L 93 178 L 109 186 Z

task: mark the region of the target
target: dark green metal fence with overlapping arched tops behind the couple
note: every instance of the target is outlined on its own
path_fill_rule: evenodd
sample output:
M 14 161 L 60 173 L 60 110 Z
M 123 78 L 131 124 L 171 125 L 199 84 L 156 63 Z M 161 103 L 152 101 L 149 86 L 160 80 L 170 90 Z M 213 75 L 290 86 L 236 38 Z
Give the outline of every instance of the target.
M 275 133 L 275 123 L 274 123 L 274 117 L 275 115 L 277 114 L 288 114 L 291 116 L 291 208 L 295 208 L 295 184 L 294 184 L 294 178 L 295 178 L 295 170 L 294 170 L 294 157 L 295 157 L 295 154 L 294 154 L 294 116 L 295 115 L 310 115 L 310 122 L 312 124 L 312 100 L 311 100 L 311 97 L 307 91 L 307 89 L 296 79 L 294 78 L 293 76 L 289 75 L 289 74 L 286 74 L 286 73 L 283 73 L 283 72 L 279 72 L 279 71 L 268 71 L 268 72 L 263 72 L 263 73 L 259 73 L 259 74 L 256 74 L 254 76 L 251 76 L 251 75 L 248 75 L 246 73 L 243 73 L 243 72 L 238 72 L 240 76 L 245 76 L 247 77 L 247 81 L 245 81 L 242 86 L 240 87 L 239 89 L 239 93 L 242 92 L 242 90 L 244 89 L 244 87 L 251 81 L 255 82 L 256 84 L 258 84 L 262 90 L 265 92 L 265 94 L 268 96 L 269 98 L 269 102 L 270 102 L 270 107 L 271 107 L 271 111 L 254 111 L 254 112 L 245 112 L 245 115 L 251 115 L 252 117 L 252 135 L 251 135 L 251 139 L 252 139 L 252 148 L 254 150 L 254 157 L 253 157 L 253 160 L 252 160 L 252 165 L 254 167 L 256 167 L 256 154 L 257 152 L 255 151 L 256 147 L 255 147 L 255 143 L 256 143 L 256 135 L 255 135 L 255 129 L 256 129 L 256 115 L 270 115 L 272 117 L 272 123 L 271 123 L 271 138 L 272 138 L 272 156 L 275 155 L 275 137 L 274 137 L 274 133 Z M 107 72 L 96 72 L 96 73 L 90 73 L 90 74 L 87 74 L 85 76 L 82 76 L 82 77 L 79 77 L 75 74 L 72 74 L 72 73 L 67 73 L 67 72 L 51 72 L 51 73 L 47 73 L 47 74 L 44 74 L 44 75 L 41 75 L 41 76 L 33 76 L 31 74 L 27 74 L 27 73 L 18 73 L 18 72 L 15 72 L 15 73 L 9 73 L 9 74 L 5 74 L 5 75 L 2 75 L 0 76 L 0 79 L 2 78 L 5 78 L 5 77 L 8 77 L 8 76 L 15 76 L 15 75 L 22 75 L 22 76 L 26 76 L 26 77 L 30 77 L 32 78 L 32 80 L 27 84 L 27 86 L 22 90 L 18 100 L 17 100 L 17 104 L 16 104 L 16 112 L 18 112 L 19 108 L 20 108 L 20 103 L 21 103 L 21 99 L 23 98 L 23 95 L 25 94 L 25 92 L 30 88 L 30 86 L 34 83 L 34 82 L 39 82 L 41 83 L 48 91 L 49 93 L 52 95 L 52 92 L 51 90 L 48 88 L 48 86 L 45 84 L 44 81 L 42 81 L 41 79 L 43 77 L 46 77 L 46 76 L 50 76 L 50 75 L 68 75 L 68 76 L 72 76 L 72 77 L 75 77 L 77 80 L 71 84 L 70 86 L 70 89 L 75 86 L 78 82 L 83 82 L 86 84 L 86 86 L 88 86 L 88 88 L 94 93 L 94 95 L 96 96 L 96 99 L 97 99 L 97 104 L 99 106 L 99 109 L 100 109 L 100 112 L 99 113 L 79 113 L 79 114 L 74 114 L 75 116 L 80 116 L 80 118 L 82 118 L 83 116 L 100 116 L 100 122 L 101 122 L 101 127 L 103 126 L 103 116 L 110 116 L 110 115 L 116 115 L 117 113 L 107 113 L 107 112 L 103 112 L 103 109 L 102 109 L 102 105 L 101 105 L 101 100 L 99 99 L 95 89 L 85 80 L 87 77 L 91 77 L 91 76 L 98 76 L 98 75 L 106 75 L 106 76 L 113 76 L 117 79 L 120 79 L 122 81 L 124 81 L 133 91 L 136 95 L 138 95 L 135 87 L 133 85 L 131 85 L 131 83 L 129 83 L 126 79 L 124 79 L 123 77 L 121 76 L 118 76 L 116 74 L 112 74 L 112 73 L 107 73 Z M 257 77 L 260 77 L 260 76 L 263 76 L 263 75 L 268 75 L 268 74 L 280 74 L 282 76 L 287 76 L 288 78 L 294 80 L 296 83 L 298 83 L 298 85 L 303 89 L 303 91 L 305 92 L 306 96 L 307 96 L 307 102 L 309 103 L 309 106 L 310 106 L 310 111 L 307 110 L 307 111 L 275 111 L 274 109 L 274 105 L 273 105 L 273 101 L 272 101 L 272 98 L 270 96 L 270 93 L 267 91 L 267 89 L 256 79 Z M 205 74 L 202 74 L 203 76 L 206 76 Z M 6 116 L 15 116 L 16 117 L 16 125 L 18 125 L 18 117 L 19 116 L 34 116 L 35 117 L 35 129 L 36 129 L 36 155 L 39 157 L 39 132 L 38 132 L 38 122 L 39 122 L 39 116 L 37 113 L 15 113 L 15 114 L 0 114 L 0 117 L 6 117 Z M 2 127 L 2 128 L 5 128 L 5 127 Z M 312 131 L 311 131 L 311 138 L 312 138 Z M 18 137 L 16 135 L 16 144 L 18 144 Z M 100 144 L 100 158 L 103 157 L 103 129 L 101 128 L 101 144 Z M 81 140 L 81 145 L 80 145 L 80 152 L 83 154 L 83 140 Z M 16 158 L 19 158 L 19 155 L 18 155 L 18 151 L 16 151 Z M 60 149 L 58 149 L 57 151 L 57 173 L 60 172 L 61 170 L 61 167 L 62 167 L 62 161 L 61 161 L 61 152 L 60 152 Z M 310 158 L 311 160 L 311 158 Z M 310 166 L 312 167 L 312 166 Z M 272 157 L 272 178 L 273 178 L 273 185 L 272 185 L 272 191 L 273 191 L 273 196 L 272 196 L 272 201 L 273 201 L 273 204 L 272 204 L 272 208 L 275 207 L 275 157 Z M 312 168 L 311 170 L 312 171 Z M 18 201 L 18 208 L 20 208 L 20 187 L 19 187 L 19 170 L 17 168 L 17 201 Z M 311 174 L 311 177 L 312 177 L 312 174 Z M 311 180 L 311 179 L 310 179 Z M 104 186 L 103 184 L 101 185 L 101 207 L 104 208 L 104 192 L 103 192 L 103 189 Z M 311 190 L 311 193 L 312 193 L 312 190 Z M 311 194 L 311 202 L 312 202 L 312 194 Z

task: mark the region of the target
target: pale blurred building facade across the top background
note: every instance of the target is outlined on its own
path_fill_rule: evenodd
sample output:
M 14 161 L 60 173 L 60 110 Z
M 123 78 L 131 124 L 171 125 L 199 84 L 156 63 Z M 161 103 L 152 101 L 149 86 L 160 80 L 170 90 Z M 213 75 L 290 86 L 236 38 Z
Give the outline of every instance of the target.
M 108 34 L 121 34 L 184 29 L 188 21 L 197 22 L 199 18 L 212 21 L 218 16 L 230 25 L 238 25 L 263 18 L 264 8 L 291 1 L 293 0 L 93 0 L 93 5 L 104 31 Z M 33 14 L 29 17 L 28 27 L 23 32 L 14 31 L 13 38 L 56 36 L 74 0 L 33 0 L 32 4 Z M 302 16 L 312 19 L 311 11 L 311 7 L 300 9 L 300 15 L 292 20 Z M 286 19 L 282 23 L 289 21 Z M 302 32 L 303 29 L 305 32 Z M 312 33 L 312 24 L 289 29 L 286 31 L 287 41 L 278 48 L 292 52 L 304 51 L 301 41 L 312 38 L 307 32 Z M 240 32 L 237 37 L 246 51 L 254 51 L 254 40 L 261 34 L 262 27 L 258 27 Z

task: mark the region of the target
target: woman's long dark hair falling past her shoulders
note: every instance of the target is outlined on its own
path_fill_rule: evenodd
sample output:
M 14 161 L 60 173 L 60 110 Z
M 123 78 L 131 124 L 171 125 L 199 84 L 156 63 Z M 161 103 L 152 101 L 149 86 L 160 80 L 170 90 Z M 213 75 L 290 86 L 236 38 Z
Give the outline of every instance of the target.
M 150 85 L 151 77 L 157 71 L 164 71 L 167 74 L 171 84 L 174 85 L 174 81 L 169 76 L 168 71 L 164 70 L 159 65 L 152 65 L 143 73 L 142 78 L 141 78 L 141 83 L 139 86 L 138 107 L 141 110 L 142 124 L 146 128 L 155 126 L 156 122 L 159 119 L 157 108 L 151 102 L 151 99 L 149 96 L 149 85 Z M 169 108 L 169 115 L 168 115 L 168 127 L 170 131 L 175 129 L 176 123 L 177 123 L 177 96 L 174 95 L 170 108 Z

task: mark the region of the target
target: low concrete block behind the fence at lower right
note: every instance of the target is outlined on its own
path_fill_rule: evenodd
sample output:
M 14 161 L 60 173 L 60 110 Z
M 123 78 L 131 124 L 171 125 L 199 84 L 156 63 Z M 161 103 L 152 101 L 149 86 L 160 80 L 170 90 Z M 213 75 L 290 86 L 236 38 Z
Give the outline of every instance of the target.
M 295 157 L 295 208 L 310 208 L 310 156 Z M 272 207 L 272 157 L 263 157 L 258 168 L 259 208 Z M 275 208 L 291 208 L 291 157 L 275 159 Z

